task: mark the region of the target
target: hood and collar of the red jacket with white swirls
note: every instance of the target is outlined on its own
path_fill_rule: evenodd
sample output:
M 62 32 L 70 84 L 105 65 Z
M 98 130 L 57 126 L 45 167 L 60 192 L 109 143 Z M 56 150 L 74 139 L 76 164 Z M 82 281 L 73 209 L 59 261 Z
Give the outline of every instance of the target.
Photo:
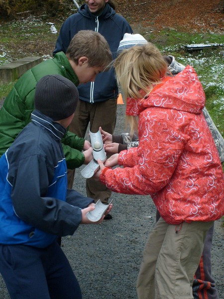
M 200 114 L 205 107 L 205 101 L 205 93 L 197 73 L 193 67 L 188 65 L 175 77 L 166 77 L 141 100 L 128 98 L 126 115 L 137 116 L 149 107 Z

